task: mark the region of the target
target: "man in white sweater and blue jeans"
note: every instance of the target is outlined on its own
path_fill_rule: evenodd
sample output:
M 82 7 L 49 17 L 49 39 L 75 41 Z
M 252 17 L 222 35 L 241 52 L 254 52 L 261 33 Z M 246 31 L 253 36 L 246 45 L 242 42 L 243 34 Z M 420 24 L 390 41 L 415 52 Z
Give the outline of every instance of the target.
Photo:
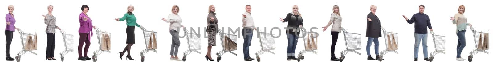
M 243 13 L 242 21 L 243 21 L 243 57 L 245 61 L 252 61 L 254 60 L 253 58 L 250 58 L 250 53 L 249 53 L 249 48 L 251 45 L 251 38 L 253 36 L 253 30 L 256 30 L 254 23 L 253 23 L 253 18 L 251 17 L 251 6 L 246 5 L 245 6 L 246 12 Z

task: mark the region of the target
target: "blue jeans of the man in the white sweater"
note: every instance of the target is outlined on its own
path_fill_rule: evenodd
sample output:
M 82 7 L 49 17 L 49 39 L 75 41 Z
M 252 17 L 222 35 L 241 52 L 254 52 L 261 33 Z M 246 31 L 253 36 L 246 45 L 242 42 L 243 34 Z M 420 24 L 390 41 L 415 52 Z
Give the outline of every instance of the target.
M 248 59 L 250 57 L 250 45 L 251 45 L 251 38 L 253 36 L 253 30 L 251 29 L 243 29 L 242 30 L 243 34 L 243 57 L 244 59 Z

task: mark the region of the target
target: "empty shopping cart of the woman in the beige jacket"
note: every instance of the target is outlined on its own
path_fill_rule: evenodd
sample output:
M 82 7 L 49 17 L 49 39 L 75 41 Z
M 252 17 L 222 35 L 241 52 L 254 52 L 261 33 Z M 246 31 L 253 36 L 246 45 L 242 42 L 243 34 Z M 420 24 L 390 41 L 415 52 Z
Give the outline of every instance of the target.
M 339 62 L 342 62 L 344 59 L 346 59 L 344 55 L 348 54 L 349 52 L 354 52 L 358 55 L 361 55 L 361 53 L 356 51 L 356 50 L 361 50 L 361 34 L 347 32 L 342 27 L 341 29 L 344 32 L 344 40 L 346 41 L 347 50 L 341 52 L 341 57 L 339 57 Z

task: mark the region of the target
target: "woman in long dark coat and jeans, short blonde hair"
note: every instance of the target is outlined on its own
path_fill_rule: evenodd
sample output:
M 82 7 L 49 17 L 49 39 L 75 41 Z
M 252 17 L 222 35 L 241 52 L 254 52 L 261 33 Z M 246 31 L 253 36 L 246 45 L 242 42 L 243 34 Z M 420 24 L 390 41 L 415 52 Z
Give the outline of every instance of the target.
M 376 59 L 379 59 L 379 54 L 378 54 L 378 46 L 380 43 L 378 42 L 378 37 L 382 37 L 382 32 L 380 30 L 380 19 L 375 15 L 375 12 L 377 11 L 377 6 L 371 5 L 370 6 L 370 13 L 366 16 L 366 37 L 368 37 L 368 42 L 366 43 L 366 54 L 368 55 L 367 60 L 372 60 L 374 61 L 370 55 L 370 46 L 372 41 L 375 42 L 375 55 Z

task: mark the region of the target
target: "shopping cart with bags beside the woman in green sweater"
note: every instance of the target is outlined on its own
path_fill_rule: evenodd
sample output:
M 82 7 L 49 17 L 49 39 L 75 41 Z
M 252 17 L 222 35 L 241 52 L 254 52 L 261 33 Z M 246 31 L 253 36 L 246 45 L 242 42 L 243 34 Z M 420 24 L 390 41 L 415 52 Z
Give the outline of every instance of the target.
M 150 38 L 153 36 L 152 34 L 154 34 L 154 38 L 157 38 L 157 32 L 156 31 L 147 31 L 145 30 L 144 27 L 140 27 L 141 30 L 143 31 L 144 33 L 144 42 L 145 42 L 145 50 L 142 50 L 141 51 L 141 62 L 144 62 L 144 54 L 146 54 L 147 52 L 149 51 L 152 51 L 152 52 L 155 52 L 157 53 L 156 49 L 148 49 L 147 47 L 153 47 L 151 45 L 148 45 L 150 43 Z

